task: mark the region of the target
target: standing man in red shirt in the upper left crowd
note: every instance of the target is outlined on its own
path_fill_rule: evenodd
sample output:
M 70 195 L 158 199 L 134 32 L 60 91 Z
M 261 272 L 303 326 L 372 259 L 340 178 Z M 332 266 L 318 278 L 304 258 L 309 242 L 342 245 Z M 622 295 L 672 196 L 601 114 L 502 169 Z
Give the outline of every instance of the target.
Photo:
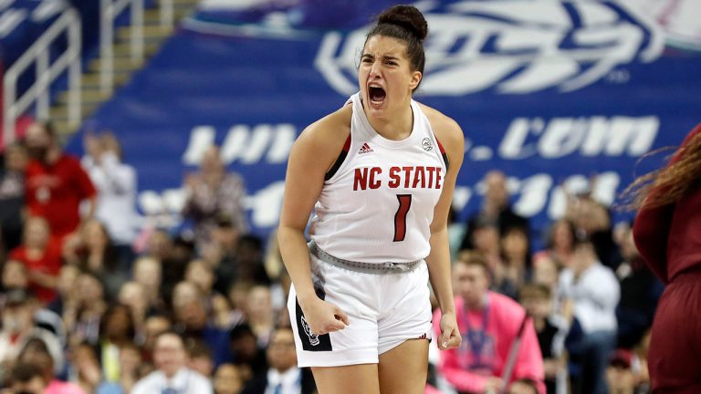
M 88 174 L 77 158 L 61 150 L 47 123 L 34 123 L 26 130 L 26 148 L 31 158 L 26 167 L 28 213 L 47 218 L 58 238 L 74 233 L 81 223 L 81 202 L 88 202 L 84 219 L 95 213 L 97 192 Z

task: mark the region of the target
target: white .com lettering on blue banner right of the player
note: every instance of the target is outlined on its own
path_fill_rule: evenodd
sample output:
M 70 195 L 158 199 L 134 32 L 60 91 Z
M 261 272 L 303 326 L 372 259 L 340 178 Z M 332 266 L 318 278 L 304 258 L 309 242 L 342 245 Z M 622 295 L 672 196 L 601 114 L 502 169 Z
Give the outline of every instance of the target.
M 499 156 L 521 160 L 533 156 L 558 159 L 582 156 L 641 156 L 653 145 L 660 120 L 654 116 L 590 118 L 517 118 L 501 140 Z M 533 137 L 536 137 L 535 141 Z

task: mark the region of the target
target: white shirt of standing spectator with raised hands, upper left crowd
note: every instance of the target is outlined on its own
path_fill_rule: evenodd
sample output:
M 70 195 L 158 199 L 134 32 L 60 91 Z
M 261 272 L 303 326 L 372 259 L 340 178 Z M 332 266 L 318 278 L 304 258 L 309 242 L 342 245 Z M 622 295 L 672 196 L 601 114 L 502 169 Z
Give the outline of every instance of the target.
M 100 155 L 99 163 L 91 156 L 85 156 L 81 164 L 98 190 L 95 217 L 105 225 L 115 244 L 131 244 L 138 218 L 136 171 L 109 151 Z

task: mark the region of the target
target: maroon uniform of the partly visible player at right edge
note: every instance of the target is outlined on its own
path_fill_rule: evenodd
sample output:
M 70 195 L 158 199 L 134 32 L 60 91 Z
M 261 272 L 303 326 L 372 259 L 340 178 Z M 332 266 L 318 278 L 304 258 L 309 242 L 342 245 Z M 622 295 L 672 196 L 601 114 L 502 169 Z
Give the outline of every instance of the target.
M 701 125 L 683 146 L 699 132 Z M 673 162 L 684 154 L 679 150 Z M 653 191 L 659 192 L 664 190 Z M 645 262 L 667 285 L 648 354 L 653 392 L 701 393 L 701 184 L 675 203 L 643 205 L 633 236 Z

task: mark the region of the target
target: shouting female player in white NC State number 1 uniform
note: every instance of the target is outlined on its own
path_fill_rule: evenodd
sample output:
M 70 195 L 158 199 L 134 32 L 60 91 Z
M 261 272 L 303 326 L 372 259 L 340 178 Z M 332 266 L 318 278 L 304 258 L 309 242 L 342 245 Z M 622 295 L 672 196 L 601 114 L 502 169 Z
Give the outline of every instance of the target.
M 382 13 L 362 49 L 360 92 L 290 152 L 278 242 L 298 364 L 321 394 L 424 392 L 429 273 L 438 345 L 460 344 L 446 228 L 464 137 L 412 99 L 427 30 L 413 6 Z

